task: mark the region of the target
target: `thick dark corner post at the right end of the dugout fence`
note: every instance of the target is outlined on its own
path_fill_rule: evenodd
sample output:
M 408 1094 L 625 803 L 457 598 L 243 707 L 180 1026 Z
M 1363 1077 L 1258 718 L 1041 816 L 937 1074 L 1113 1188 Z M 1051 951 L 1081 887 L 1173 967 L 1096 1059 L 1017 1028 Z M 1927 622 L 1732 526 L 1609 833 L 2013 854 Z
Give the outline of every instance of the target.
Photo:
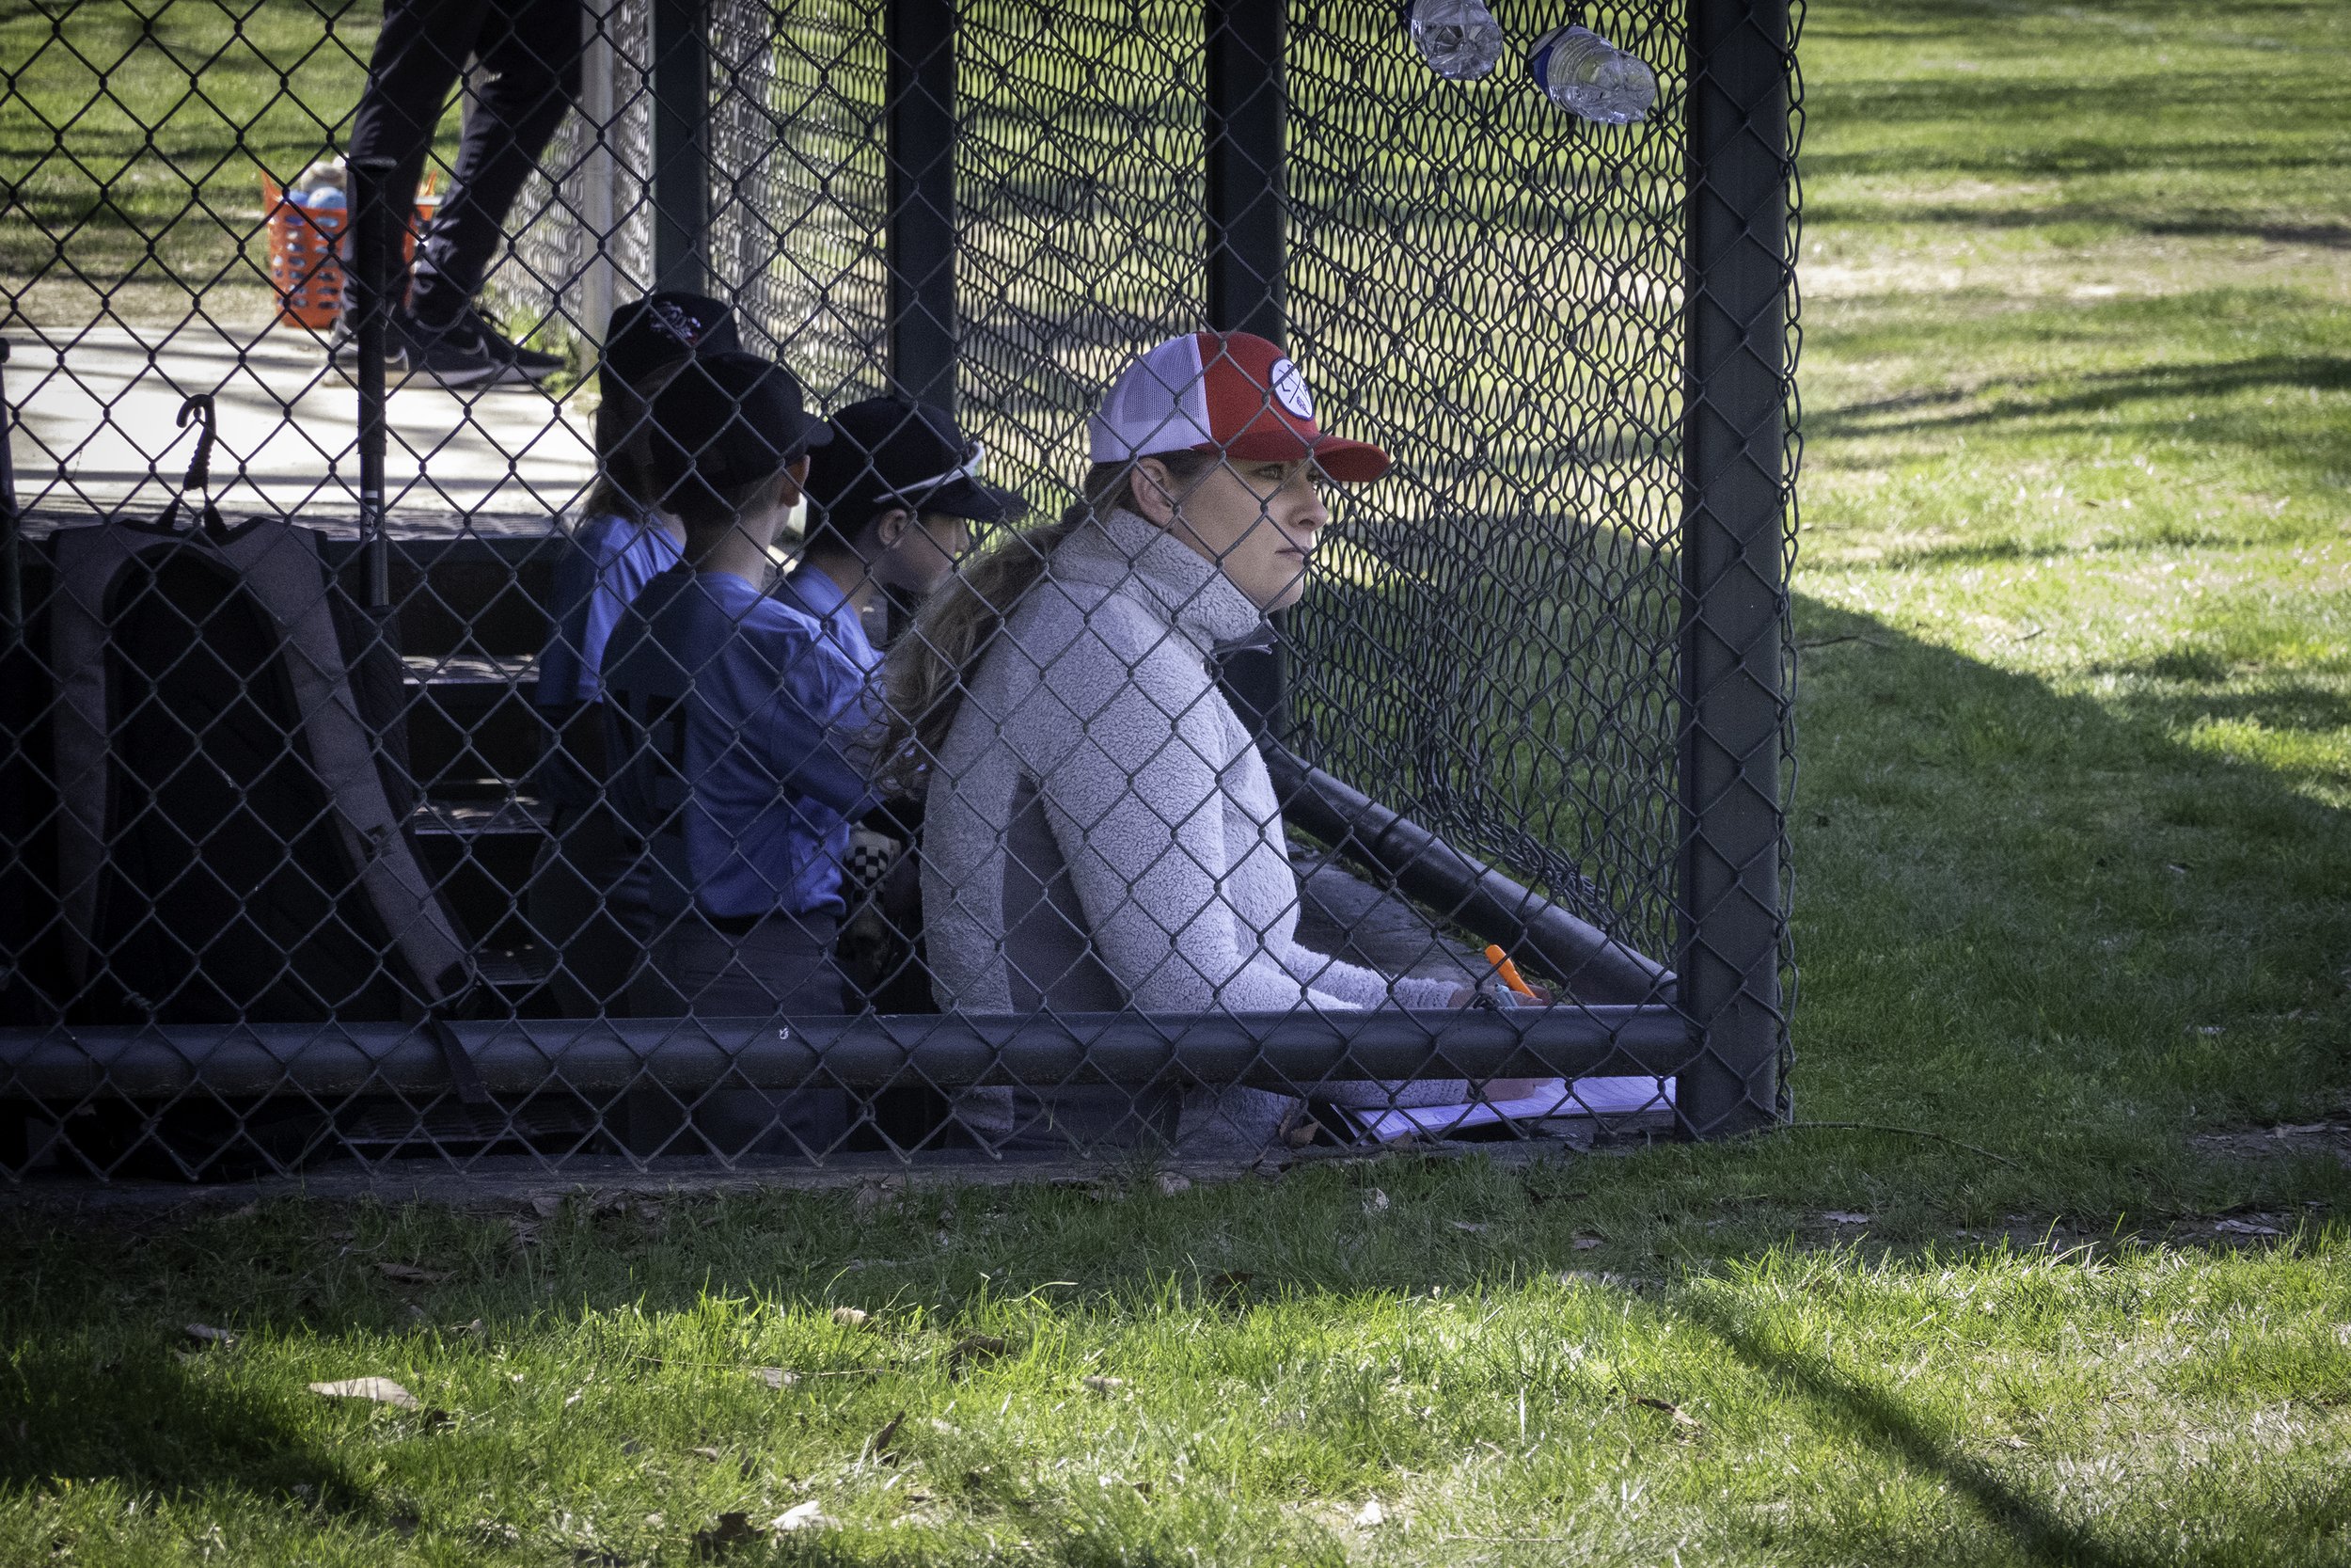
M 1686 1133 L 1780 1114 L 1787 0 L 1690 0 L 1681 529 Z

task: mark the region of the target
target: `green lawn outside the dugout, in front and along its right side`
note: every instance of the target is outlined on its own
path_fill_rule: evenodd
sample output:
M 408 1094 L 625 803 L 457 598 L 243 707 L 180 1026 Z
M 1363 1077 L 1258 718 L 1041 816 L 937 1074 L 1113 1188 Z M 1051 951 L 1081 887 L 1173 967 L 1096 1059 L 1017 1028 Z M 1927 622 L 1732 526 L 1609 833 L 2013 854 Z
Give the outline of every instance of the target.
M 0 1563 L 2351 1561 L 2346 56 L 1808 19 L 1796 1103 L 1958 1145 L 19 1211 Z

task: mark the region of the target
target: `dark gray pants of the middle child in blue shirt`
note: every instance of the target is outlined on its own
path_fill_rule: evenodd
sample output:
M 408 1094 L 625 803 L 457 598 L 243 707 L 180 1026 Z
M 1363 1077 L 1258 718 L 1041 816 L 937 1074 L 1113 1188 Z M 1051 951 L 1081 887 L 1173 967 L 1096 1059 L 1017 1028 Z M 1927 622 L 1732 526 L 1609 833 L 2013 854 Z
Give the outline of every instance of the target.
M 637 1018 L 776 1018 L 842 1011 L 842 971 L 832 964 L 839 922 L 832 914 L 771 914 L 748 931 L 719 929 L 696 912 L 677 914 L 654 936 L 644 969 L 628 987 Z M 719 1084 L 691 1105 L 672 1100 L 668 1152 L 694 1135 L 712 1154 L 828 1154 L 849 1131 L 842 1088 L 752 1088 Z M 654 1112 L 632 1107 L 630 1143 L 639 1154 L 658 1140 Z M 691 1133 L 691 1135 L 689 1135 Z

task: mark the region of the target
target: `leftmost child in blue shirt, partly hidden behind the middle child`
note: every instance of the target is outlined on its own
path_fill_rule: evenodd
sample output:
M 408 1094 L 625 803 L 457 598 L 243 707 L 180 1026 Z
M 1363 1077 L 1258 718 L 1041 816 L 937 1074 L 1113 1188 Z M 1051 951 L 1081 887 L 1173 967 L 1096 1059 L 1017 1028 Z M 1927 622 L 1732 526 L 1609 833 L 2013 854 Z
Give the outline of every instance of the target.
M 703 294 L 658 292 L 611 313 L 597 364 L 597 484 L 555 562 L 536 708 L 545 722 L 534 795 L 548 839 L 524 914 L 557 964 L 564 1013 L 628 1011 L 628 980 L 651 938 L 644 872 L 607 804 L 600 665 L 637 592 L 684 555 L 684 524 L 654 505 L 649 400 L 696 350 L 738 348 L 734 310 Z

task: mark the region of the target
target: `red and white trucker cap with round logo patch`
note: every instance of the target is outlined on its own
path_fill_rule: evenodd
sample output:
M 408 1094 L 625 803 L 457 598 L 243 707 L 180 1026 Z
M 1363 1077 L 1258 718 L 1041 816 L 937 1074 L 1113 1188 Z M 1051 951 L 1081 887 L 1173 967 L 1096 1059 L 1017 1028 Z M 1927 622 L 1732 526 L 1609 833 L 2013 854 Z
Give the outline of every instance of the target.
M 1152 348 L 1112 383 L 1086 437 L 1096 463 L 1223 451 L 1244 463 L 1314 458 L 1345 484 L 1387 473 L 1378 447 L 1324 435 L 1307 378 L 1251 331 L 1192 331 Z

